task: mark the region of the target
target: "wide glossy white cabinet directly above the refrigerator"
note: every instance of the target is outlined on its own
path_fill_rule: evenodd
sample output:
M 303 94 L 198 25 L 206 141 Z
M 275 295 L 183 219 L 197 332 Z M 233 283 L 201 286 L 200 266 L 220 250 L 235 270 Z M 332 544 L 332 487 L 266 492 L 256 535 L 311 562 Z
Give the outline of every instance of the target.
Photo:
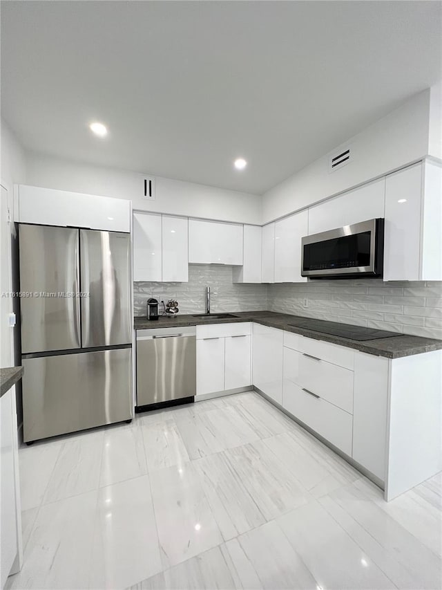
M 73 225 L 110 232 L 131 231 L 131 201 L 109 196 L 19 185 L 15 221 Z

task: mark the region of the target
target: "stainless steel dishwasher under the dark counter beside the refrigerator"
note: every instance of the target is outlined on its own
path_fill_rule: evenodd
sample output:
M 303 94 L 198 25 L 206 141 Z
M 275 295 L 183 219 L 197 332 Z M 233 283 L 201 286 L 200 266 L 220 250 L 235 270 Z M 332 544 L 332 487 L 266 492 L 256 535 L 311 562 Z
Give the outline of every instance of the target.
M 137 331 L 137 408 L 191 401 L 196 394 L 196 328 Z

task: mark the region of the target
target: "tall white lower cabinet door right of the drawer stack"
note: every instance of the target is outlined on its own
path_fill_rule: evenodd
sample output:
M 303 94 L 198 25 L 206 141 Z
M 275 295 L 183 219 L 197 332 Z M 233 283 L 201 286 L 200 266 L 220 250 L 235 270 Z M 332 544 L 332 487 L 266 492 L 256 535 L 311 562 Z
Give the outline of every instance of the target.
M 388 359 L 354 353 L 352 457 L 385 481 Z

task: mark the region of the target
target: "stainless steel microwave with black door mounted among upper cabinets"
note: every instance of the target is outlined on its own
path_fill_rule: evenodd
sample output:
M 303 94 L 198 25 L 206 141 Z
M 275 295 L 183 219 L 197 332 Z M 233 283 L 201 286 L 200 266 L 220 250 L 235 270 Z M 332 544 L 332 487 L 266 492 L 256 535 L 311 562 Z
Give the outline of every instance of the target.
M 306 236 L 301 244 L 302 277 L 349 279 L 383 275 L 383 219 L 370 219 Z

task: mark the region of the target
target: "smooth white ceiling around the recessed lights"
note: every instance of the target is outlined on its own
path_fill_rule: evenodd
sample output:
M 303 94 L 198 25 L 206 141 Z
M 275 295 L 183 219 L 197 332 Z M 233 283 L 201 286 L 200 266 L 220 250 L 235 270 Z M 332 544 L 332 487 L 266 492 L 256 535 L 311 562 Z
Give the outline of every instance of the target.
M 28 149 L 261 194 L 439 79 L 441 6 L 2 2 L 3 116 Z

